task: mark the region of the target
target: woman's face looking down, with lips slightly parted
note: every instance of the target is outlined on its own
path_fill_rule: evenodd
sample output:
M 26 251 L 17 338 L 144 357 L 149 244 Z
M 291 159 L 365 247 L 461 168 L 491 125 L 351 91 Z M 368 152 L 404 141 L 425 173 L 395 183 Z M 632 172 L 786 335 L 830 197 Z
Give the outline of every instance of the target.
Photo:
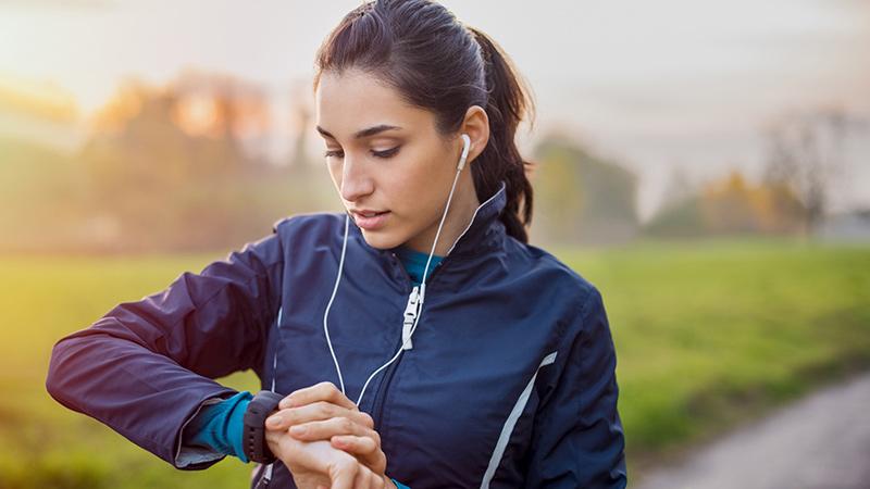
M 380 249 L 407 244 L 427 253 L 462 140 L 440 136 L 432 112 L 408 104 L 398 91 L 360 71 L 324 72 L 315 102 L 330 174 L 365 241 Z M 448 220 L 468 200 L 469 187 L 474 193 L 470 175 L 465 167 Z M 366 217 L 369 213 L 380 214 Z M 444 238 L 438 238 L 439 249 Z

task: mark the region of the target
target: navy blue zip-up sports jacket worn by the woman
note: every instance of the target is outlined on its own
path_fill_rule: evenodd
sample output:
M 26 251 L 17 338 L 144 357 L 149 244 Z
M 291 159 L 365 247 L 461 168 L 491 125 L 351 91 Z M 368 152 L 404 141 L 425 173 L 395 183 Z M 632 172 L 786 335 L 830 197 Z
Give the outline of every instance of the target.
M 616 353 L 601 296 L 549 253 L 505 233 L 505 187 L 477 208 L 427 278 L 405 351 L 366 388 L 387 475 L 426 488 L 622 488 Z M 323 333 L 343 213 L 300 214 L 273 234 L 124 302 L 54 346 L 46 386 L 178 468 L 181 432 L 213 378 L 252 368 L 289 393 L 338 385 Z M 347 396 L 399 348 L 411 280 L 351 225 L 330 334 Z M 278 324 L 278 309 L 283 309 Z M 273 369 L 273 366 L 275 367 Z M 276 487 L 295 487 L 276 464 Z

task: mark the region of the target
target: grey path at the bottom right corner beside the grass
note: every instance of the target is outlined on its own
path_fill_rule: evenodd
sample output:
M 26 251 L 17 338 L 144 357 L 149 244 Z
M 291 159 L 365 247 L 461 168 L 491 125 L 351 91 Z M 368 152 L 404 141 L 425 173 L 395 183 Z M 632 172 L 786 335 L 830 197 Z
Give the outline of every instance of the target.
M 870 374 L 739 428 L 636 489 L 868 489 Z

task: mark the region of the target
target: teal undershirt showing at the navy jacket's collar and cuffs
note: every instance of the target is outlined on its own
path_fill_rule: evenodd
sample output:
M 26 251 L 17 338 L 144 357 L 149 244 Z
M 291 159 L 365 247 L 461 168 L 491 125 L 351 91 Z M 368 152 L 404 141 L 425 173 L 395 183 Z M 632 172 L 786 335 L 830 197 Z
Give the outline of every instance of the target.
M 428 260 L 428 253 L 406 247 L 394 248 L 393 251 L 401 261 L 413 285 L 420 285 Z M 443 259 L 444 256 L 432 256 L 426 279 L 432 276 L 432 272 Z M 183 443 L 185 446 L 208 448 L 217 453 L 234 455 L 243 462 L 248 462 L 241 448 L 241 419 L 251 398 L 250 392 L 244 391 L 217 404 L 203 406 L 185 428 Z M 393 479 L 393 481 L 396 482 L 399 489 L 408 489 L 407 486 L 401 485 L 396 479 Z

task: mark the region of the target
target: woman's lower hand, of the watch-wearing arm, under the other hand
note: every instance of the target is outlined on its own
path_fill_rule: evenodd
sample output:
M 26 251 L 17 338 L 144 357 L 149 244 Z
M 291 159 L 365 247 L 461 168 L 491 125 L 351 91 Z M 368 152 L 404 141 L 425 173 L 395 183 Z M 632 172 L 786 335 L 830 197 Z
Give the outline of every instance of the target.
M 395 488 L 357 459 L 327 441 L 299 441 L 286 431 L 266 430 L 269 450 L 290 471 L 299 489 Z

